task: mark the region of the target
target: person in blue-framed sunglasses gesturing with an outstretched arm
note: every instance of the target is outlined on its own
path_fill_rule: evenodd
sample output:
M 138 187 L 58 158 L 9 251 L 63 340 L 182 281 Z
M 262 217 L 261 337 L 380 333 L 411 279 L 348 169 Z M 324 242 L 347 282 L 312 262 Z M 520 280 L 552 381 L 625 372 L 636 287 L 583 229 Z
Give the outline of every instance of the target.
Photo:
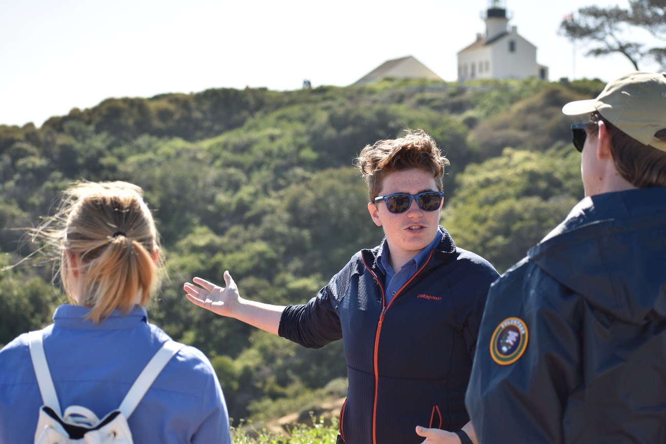
M 356 159 L 385 238 L 361 250 L 307 304 L 271 306 L 201 278 L 188 300 L 305 347 L 342 339 L 348 397 L 338 443 L 473 442 L 464 395 L 496 270 L 440 226 L 449 165 L 422 130 L 368 145 Z M 424 440 L 426 438 L 426 440 Z

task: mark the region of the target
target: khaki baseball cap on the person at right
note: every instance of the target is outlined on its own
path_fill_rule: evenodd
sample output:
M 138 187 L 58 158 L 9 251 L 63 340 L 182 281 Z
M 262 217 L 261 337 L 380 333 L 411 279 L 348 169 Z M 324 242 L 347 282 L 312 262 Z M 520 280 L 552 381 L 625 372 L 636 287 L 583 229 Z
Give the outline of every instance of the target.
M 625 74 L 606 85 L 596 99 L 562 108 L 569 116 L 593 111 L 642 144 L 666 151 L 666 141 L 655 137 L 666 128 L 666 73 Z

